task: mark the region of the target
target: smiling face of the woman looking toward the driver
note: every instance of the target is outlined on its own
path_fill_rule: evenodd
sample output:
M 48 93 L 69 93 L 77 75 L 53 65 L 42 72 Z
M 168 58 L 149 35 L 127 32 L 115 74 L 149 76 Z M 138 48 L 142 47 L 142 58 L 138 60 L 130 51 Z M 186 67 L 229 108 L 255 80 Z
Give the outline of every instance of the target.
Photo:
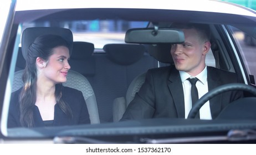
M 69 49 L 65 46 L 54 48 L 53 54 L 42 70 L 45 79 L 52 81 L 54 84 L 66 82 L 66 75 L 68 75 L 70 69 L 69 57 Z

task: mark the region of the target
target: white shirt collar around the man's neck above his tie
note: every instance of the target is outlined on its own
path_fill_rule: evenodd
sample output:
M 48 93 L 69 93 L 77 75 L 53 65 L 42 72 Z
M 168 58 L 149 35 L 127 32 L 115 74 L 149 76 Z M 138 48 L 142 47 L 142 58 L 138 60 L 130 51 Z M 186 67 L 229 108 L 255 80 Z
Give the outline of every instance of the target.
M 199 81 L 201 81 L 203 84 L 206 84 L 207 82 L 207 66 L 196 76 L 191 76 L 190 74 L 186 73 L 186 71 L 179 71 L 181 76 L 181 81 L 184 82 L 189 77 L 197 77 Z

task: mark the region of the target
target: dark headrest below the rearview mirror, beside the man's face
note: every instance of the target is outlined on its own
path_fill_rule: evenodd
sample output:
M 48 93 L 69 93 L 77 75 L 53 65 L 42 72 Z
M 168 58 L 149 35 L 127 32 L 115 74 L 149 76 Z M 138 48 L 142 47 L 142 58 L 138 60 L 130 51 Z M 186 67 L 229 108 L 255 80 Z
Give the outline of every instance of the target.
M 174 63 L 171 55 L 171 44 L 149 44 L 146 46 L 149 54 L 156 60 L 166 64 Z

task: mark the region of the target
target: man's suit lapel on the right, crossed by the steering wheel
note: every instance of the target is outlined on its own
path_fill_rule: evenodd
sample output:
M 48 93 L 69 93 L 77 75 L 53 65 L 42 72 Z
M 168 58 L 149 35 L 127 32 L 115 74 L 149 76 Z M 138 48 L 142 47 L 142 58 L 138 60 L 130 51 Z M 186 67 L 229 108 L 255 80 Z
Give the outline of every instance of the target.
M 221 86 L 219 75 L 216 73 L 214 68 L 207 67 L 207 81 L 208 81 L 208 91 L 218 86 Z M 222 95 L 218 95 L 209 100 L 212 118 L 216 118 L 218 113 L 221 111 L 221 97 Z

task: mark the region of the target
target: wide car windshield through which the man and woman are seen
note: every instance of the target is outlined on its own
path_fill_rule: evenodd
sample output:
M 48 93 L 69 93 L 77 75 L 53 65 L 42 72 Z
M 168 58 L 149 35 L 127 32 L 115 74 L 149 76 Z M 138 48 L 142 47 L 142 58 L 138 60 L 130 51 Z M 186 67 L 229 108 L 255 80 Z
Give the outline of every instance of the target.
M 256 13 L 203 3 L 220 8 L 18 3 L 1 76 L 2 134 L 55 143 L 255 141 Z M 207 29 L 181 26 L 191 23 Z M 50 47 L 57 39 L 44 34 L 64 41 Z M 196 106 L 189 77 L 199 79 Z

